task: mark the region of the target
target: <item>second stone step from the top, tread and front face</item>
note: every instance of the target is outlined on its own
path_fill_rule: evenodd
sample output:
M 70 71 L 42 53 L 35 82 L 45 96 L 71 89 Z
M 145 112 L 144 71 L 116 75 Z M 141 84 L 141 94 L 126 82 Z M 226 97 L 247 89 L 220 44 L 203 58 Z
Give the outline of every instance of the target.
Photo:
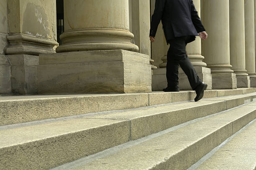
M 256 92 L 1 126 L 0 167 L 49 169 L 254 100 Z

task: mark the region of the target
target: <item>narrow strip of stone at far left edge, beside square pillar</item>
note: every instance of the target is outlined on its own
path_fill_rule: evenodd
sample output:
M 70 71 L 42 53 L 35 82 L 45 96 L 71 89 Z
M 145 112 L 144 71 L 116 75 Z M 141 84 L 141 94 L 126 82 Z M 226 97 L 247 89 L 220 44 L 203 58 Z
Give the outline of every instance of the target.
M 11 70 L 10 62 L 4 52 L 8 34 L 7 0 L 0 1 L 0 15 L 0 94 L 8 94 L 11 92 Z

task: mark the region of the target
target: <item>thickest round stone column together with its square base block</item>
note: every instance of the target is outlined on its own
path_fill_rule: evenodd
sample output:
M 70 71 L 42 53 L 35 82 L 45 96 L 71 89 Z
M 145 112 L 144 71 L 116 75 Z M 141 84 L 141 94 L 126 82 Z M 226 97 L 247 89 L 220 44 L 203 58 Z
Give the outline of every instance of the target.
M 64 0 L 64 30 L 58 53 L 39 56 L 39 93 L 151 91 L 149 55 L 133 52 L 128 0 Z

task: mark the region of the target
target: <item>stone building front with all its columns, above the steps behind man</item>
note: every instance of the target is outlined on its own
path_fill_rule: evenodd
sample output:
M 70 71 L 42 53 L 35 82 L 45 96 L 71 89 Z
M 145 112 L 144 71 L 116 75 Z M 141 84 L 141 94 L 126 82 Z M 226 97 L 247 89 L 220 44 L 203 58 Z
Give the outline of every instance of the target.
M 168 45 L 161 23 L 149 41 L 154 3 L 1 0 L 0 94 L 161 90 Z M 256 0 L 194 3 L 208 39 L 197 37 L 187 53 L 208 89 L 256 87 Z

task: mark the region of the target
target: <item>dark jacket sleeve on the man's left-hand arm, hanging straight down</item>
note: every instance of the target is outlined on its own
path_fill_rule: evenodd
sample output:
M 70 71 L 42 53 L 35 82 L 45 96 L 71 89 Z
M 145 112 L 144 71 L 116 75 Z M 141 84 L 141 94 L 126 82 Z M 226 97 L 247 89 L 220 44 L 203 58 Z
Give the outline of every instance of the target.
M 156 30 L 162 18 L 164 12 L 164 5 L 166 0 L 156 0 L 154 14 L 151 18 L 150 32 L 149 35 L 152 37 L 156 36 Z

